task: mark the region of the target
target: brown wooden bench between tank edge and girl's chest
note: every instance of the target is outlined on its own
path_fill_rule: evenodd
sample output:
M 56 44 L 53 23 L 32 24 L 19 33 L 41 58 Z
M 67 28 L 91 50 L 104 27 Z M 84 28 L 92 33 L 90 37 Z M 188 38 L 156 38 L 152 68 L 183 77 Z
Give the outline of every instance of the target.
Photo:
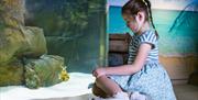
M 129 33 L 109 35 L 109 66 L 127 64 L 131 40 L 132 36 Z

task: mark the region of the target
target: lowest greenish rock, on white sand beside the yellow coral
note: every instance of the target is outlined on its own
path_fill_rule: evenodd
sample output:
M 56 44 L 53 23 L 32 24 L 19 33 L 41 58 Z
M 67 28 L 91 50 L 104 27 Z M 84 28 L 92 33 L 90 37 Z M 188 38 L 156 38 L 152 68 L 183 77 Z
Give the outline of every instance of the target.
M 25 86 L 28 88 L 47 87 L 62 81 L 64 58 L 43 55 L 40 59 L 25 59 Z

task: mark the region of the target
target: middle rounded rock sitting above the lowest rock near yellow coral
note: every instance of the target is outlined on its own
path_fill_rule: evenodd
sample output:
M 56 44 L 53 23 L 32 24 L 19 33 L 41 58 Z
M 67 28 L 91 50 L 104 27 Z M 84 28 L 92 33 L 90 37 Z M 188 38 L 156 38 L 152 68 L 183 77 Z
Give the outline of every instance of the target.
M 21 26 L 21 31 L 24 35 L 25 45 L 21 47 L 20 53 L 16 55 L 40 57 L 41 55 L 47 53 L 43 29 L 34 26 Z

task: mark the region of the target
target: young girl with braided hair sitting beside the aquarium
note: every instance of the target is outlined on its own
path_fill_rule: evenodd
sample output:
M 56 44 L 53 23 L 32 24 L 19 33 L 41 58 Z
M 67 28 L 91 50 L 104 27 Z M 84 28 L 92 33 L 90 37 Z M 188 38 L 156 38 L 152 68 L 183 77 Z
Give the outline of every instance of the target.
M 128 65 L 94 70 L 92 92 L 106 98 L 100 100 L 147 100 L 148 97 L 150 100 L 176 100 L 170 79 L 158 62 L 158 34 L 150 1 L 129 0 L 122 8 L 122 16 L 134 33 Z

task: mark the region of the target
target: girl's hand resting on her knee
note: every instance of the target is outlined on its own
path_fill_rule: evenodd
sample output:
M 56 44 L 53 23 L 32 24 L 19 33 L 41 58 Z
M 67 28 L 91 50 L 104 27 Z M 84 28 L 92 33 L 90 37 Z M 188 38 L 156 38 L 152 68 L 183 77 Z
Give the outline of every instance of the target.
M 102 68 L 102 67 L 97 68 L 97 69 L 95 69 L 95 70 L 92 71 L 92 75 L 94 75 L 96 78 L 99 78 L 99 77 L 106 75 L 106 68 Z

